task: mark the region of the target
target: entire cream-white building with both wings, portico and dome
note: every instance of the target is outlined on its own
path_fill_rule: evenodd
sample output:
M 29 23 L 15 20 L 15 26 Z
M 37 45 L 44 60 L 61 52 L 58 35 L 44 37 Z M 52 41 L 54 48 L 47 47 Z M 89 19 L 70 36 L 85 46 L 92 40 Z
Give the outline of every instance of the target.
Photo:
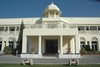
M 76 58 L 86 45 L 90 50 L 100 51 L 99 17 L 61 17 L 61 14 L 52 3 L 44 10 L 43 17 L 1 18 L 0 52 L 5 46 L 16 48 L 21 34 L 22 58 Z

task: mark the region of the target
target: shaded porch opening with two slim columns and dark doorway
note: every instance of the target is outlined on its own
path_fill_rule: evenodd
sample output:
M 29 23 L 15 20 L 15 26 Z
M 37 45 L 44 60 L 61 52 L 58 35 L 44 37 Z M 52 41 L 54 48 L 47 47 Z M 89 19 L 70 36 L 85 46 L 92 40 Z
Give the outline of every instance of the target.
M 27 53 L 56 56 L 73 53 L 74 36 L 28 36 Z

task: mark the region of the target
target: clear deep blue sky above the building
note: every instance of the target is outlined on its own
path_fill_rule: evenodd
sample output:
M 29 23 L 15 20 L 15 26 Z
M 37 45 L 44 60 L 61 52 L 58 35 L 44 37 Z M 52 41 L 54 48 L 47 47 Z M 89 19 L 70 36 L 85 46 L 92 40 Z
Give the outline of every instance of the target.
M 41 17 L 52 2 L 64 17 L 100 17 L 99 0 L 0 0 L 0 18 Z

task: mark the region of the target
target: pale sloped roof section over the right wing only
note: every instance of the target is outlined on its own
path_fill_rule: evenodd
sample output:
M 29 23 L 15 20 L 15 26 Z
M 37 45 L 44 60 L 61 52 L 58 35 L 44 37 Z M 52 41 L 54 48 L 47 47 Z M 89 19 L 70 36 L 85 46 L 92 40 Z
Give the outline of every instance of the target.
M 69 24 L 100 24 L 100 17 L 62 17 Z

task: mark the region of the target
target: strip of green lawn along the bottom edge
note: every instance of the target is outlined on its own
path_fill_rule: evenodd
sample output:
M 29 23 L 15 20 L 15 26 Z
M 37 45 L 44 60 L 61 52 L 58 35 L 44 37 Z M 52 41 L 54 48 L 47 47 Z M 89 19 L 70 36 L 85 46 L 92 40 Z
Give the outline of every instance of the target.
M 78 66 L 68 66 L 61 64 L 35 64 L 30 65 L 19 65 L 19 64 L 0 64 L 0 67 L 100 67 L 100 64 L 88 64 L 88 65 L 78 65 Z

